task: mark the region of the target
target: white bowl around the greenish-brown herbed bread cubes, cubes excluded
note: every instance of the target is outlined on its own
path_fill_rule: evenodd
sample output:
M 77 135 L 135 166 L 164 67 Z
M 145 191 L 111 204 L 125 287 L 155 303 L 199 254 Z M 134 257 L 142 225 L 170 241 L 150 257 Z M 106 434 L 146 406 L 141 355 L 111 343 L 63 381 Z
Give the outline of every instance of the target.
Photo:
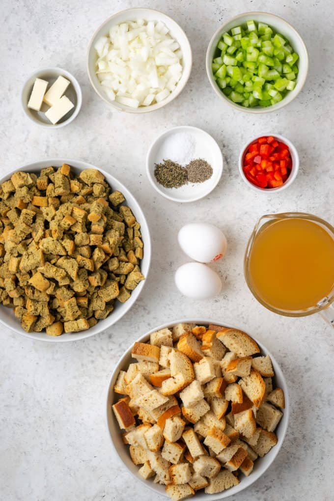
M 106 181 L 114 190 L 119 190 L 124 194 L 126 199 L 125 203 L 129 205 L 137 221 L 141 225 L 142 239 L 144 242 L 144 257 L 143 260 L 141 261 L 140 267 L 143 275 L 147 279 L 151 262 L 151 238 L 144 213 L 140 208 L 137 200 L 130 193 L 130 191 L 122 183 L 120 183 L 120 181 L 118 181 L 114 176 L 112 176 L 108 172 L 100 169 L 98 166 L 91 165 L 89 163 L 82 162 L 80 160 L 73 160 L 71 158 L 47 158 L 44 160 L 43 159 L 37 160 L 36 162 L 29 163 L 26 165 L 21 165 L 21 167 L 12 170 L 6 176 L 2 177 L 0 179 L 0 184 L 10 179 L 12 174 L 17 170 L 22 170 L 25 172 L 35 172 L 36 174 L 38 174 L 41 168 L 43 167 L 48 167 L 50 165 L 54 167 L 60 167 L 63 163 L 71 165 L 71 167 L 73 167 L 73 171 L 76 174 L 80 174 L 80 172 L 84 169 L 90 169 L 90 168 L 98 169 L 100 172 L 102 172 L 102 174 L 106 178 Z M 20 321 L 15 317 L 13 310 L 11 310 L 10 308 L 6 308 L 5 306 L 2 305 L 0 305 L 0 323 L 5 325 L 9 329 L 12 329 L 12 331 L 17 332 L 18 334 L 22 334 L 23 336 L 26 336 L 31 339 L 38 339 L 40 341 L 61 343 L 65 341 L 77 341 L 79 339 L 89 338 L 90 336 L 94 336 L 94 334 L 98 334 L 99 332 L 108 329 L 109 327 L 114 325 L 118 320 L 120 320 L 123 317 L 123 315 L 125 315 L 130 310 L 132 305 L 136 302 L 138 296 L 143 290 L 145 282 L 146 280 L 143 280 L 138 284 L 136 289 L 132 292 L 131 297 L 125 303 L 120 303 L 116 301 L 115 309 L 111 312 L 111 314 L 108 315 L 106 319 L 99 320 L 99 322 L 94 327 L 87 329 L 87 331 L 76 332 L 72 334 L 64 333 L 61 336 L 48 336 L 45 332 L 28 333 L 21 327 Z

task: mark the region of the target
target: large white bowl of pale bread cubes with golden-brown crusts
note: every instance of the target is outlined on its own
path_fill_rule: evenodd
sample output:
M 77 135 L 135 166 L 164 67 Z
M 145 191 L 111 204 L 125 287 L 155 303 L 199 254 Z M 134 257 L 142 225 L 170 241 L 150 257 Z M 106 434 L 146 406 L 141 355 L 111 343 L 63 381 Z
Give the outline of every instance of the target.
M 222 499 L 275 459 L 289 417 L 287 386 L 245 332 L 181 320 L 136 341 L 115 368 L 107 423 L 135 477 L 178 501 Z

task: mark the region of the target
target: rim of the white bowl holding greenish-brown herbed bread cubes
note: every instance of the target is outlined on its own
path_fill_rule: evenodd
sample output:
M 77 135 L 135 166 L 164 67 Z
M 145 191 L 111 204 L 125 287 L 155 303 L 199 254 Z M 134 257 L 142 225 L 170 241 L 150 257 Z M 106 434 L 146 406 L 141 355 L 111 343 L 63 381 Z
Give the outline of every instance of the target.
M 37 163 L 42 163 L 42 162 L 43 163 L 45 162 L 46 166 L 48 166 L 50 164 L 57 165 L 58 163 L 67 163 L 70 166 L 73 166 L 75 169 L 79 169 L 79 170 L 91 169 L 91 168 L 92 169 L 98 169 L 100 172 L 102 172 L 102 174 L 104 176 L 110 177 L 112 179 L 111 184 L 114 181 L 116 181 L 117 184 L 120 185 L 121 189 L 124 190 L 124 193 L 129 193 L 131 195 L 131 197 L 133 198 L 133 200 L 137 204 L 136 210 L 139 209 L 141 218 L 142 218 L 142 220 L 143 220 L 143 222 L 144 222 L 144 224 L 146 226 L 146 230 L 147 230 L 146 240 L 144 241 L 144 246 L 146 247 L 145 256 L 148 256 L 148 257 L 146 257 L 146 259 L 147 259 L 147 266 L 146 266 L 147 267 L 147 271 L 145 272 L 145 280 L 143 280 L 142 282 L 140 282 L 138 284 L 138 287 L 139 287 L 138 292 L 137 292 L 138 295 L 133 300 L 133 302 L 129 303 L 128 308 L 120 316 L 118 316 L 117 318 L 115 318 L 114 321 L 111 321 L 108 325 L 103 326 L 103 328 L 101 327 L 101 325 L 104 322 L 104 320 L 107 320 L 107 319 L 109 319 L 109 321 L 113 320 L 112 319 L 113 312 L 111 312 L 111 314 L 108 315 L 108 317 L 106 317 L 106 319 L 99 321 L 95 326 L 90 327 L 86 331 L 69 333 L 70 334 L 69 337 L 64 337 L 64 334 L 62 334 L 61 336 L 48 336 L 46 333 L 44 333 L 44 335 L 40 337 L 39 335 L 41 335 L 41 333 L 25 332 L 23 329 L 19 330 L 18 328 L 14 328 L 11 325 L 9 325 L 2 318 L 1 310 L 0 310 L 0 324 L 4 325 L 5 327 L 7 327 L 8 329 L 10 329 L 13 332 L 15 332 L 17 334 L 20 334 L 21 336 L 25 336 L 25 337 L 27 337 L 29 339 L 35 339 L 37 341 L 43 341 L 43 342 L 49 342 L 49 343 L 67 343 L 67 342 L 73 342 L 73 341 L 80 341 L 81 339 L 86 339 L 86 338 L 89 338 L 91 336 L 95 336 L 96 334 L 100 334 L 102 331 L 105 331 L 105 330 L 109 329 L 111 326 L 115 325 L 119 320 L 121 320 L 131 310 L 131 308 L 133 307 L 133 305 L 138 300 L 138 298 L 141 295 L 144 287 L 146 286 L 147 278 L 148 278 L 148 275 L 149 275 L 149 272 L 150 272 L 150 267 L 151 267 L 152 243 L 151 243 L 150 229 L 149 229 L 149 225 L 147 223 L 147 219 L 145 217 L 145 214 L 143 212 L 143 209 L 141 208 L 140 204 L 138 203 L 138 200 L 135 198 L 135 196 L 132 194 L 132 192 L 123 183 L 121 183 L 121 181 L 119 181 L 116 177 L 114 177 L 112 174 L 109 174 L 109 172 L 106 172 L 105 170 L 100 169 L 96 165 L 92 165 L 90 163 L 87 163 L 84 160 L 76 160 L 74 158 L 67 158 L 67 157 L 41 158 L 41 159 L 35 160 L 34 162 L 30 162 L 30 163 L 26 163 L 24 165 L 21 165 L 21 166 L 17 167 L 16 169 L 13 169 L 13 170 L 7 172 L 7 174 L 3 175 L 0 178 L 0 184 L 3 183 L 5 179 L 9 178 L 11 176 L 11 174 L 13 174 L 14 172 L 17 172 L 18 170 L 23 170 L 23 169 L 27 168 L 28 166 L 31 166 L 31 165 L 34 165 L 34 164 L 37 164 Z M 81 164 L 80 167 L 78 167 L 78 164 Z M 41 169 L 41 168 L 43 168 L 43 167 L 39 167 L 36 170 Z M 129 205 L 129 207 L 133 208 L 130 205 Z M 129 298 L 128 301 L 130 301 L 130 300 L 131 300 L 131 297 Z M 5 308 L 5 307 L 3 307 L 3 308 Z M 19 319 L 18 319 L 18 321 L 19 321 Z M 100 327 L 99 327 L 99 324 L 100 324 Z

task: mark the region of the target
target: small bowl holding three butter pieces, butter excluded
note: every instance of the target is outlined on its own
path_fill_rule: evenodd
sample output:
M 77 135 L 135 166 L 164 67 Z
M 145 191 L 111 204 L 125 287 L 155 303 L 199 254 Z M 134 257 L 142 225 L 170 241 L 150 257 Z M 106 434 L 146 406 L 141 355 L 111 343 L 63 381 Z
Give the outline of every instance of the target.
M 49 106 L 47 104 L 42 104 L 41 111 L 35 111 L 31 108 L 28 108 L 28 101 L 32 93 L 36 78 L 47 80 L 49 82 L 49 89 L 60 75 L 71 82 L 64 95 L 67 96 L 70 101 L 72 101 L 74 108 L 72 108 L 72 110 L 70 110 L 57 124 L 54 125 L 45 116 L 45 112 L 49 109 Z M 59 129 L 60 127 L 64 127 L 65 125 L 73 122 L 73 120 L 78 115 L 82 105 L 81 88 L 77 79 L 70 72 L 63 70 L 62 68 L 42 68 L 40 70 L 34 71 L 34 73 L 32 73 L 26 80 L 21 93 L 21 103 L 27 117 L 30 118 L 30 120 L 32 120 L 34 123 L 41 125 L 41 127 L 46 127 L 47 129 Z

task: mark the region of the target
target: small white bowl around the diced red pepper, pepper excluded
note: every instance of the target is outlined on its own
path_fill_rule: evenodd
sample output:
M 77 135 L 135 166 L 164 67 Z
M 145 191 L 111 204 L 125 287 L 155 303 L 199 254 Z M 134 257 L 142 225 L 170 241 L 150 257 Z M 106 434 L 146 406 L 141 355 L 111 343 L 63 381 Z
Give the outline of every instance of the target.
M 292 160 L 292 168 L 289 177 L 286 179 L 285 183 L 283 183 L 281 186 L 278 186 L 277 188 L 260 188 L 258 186 L 255 186 L 252 184 L 248 179 L 246 178 L 244 172 L 243 172 L 243 157 L 245 156 L 246 150 L 250 144 L 258 139 L 259 137 L 262 136 L 272 136 L 278 141 L 281 141 L 282 143 L 285 143 L 286 146 L 288 146 L 291 154 L 291 160 Z M 262 191 L 263 193 L 266 193 L 267 195 L 271 195 L 272 193 L 278 193 L 279 191 L 282 191 L 283 189 L 286 189 L 288 186 L 291 186 L 295 178 L 297 177 L 299 170 L 299 156 L 298 152 L 295 148 L 295 146 L 289 141 L 286 137 L 280 136 L 279 134 L 260 134 L 256 137 L 254 137 L 251 141 L 247 141 L 245 146 L 241 149 L 240 155 L 239 155 L 239 172 L 240 176 L 242 177 L 243 181 L 247 184 L 247 186 L 250 186 L 254 191 Z

